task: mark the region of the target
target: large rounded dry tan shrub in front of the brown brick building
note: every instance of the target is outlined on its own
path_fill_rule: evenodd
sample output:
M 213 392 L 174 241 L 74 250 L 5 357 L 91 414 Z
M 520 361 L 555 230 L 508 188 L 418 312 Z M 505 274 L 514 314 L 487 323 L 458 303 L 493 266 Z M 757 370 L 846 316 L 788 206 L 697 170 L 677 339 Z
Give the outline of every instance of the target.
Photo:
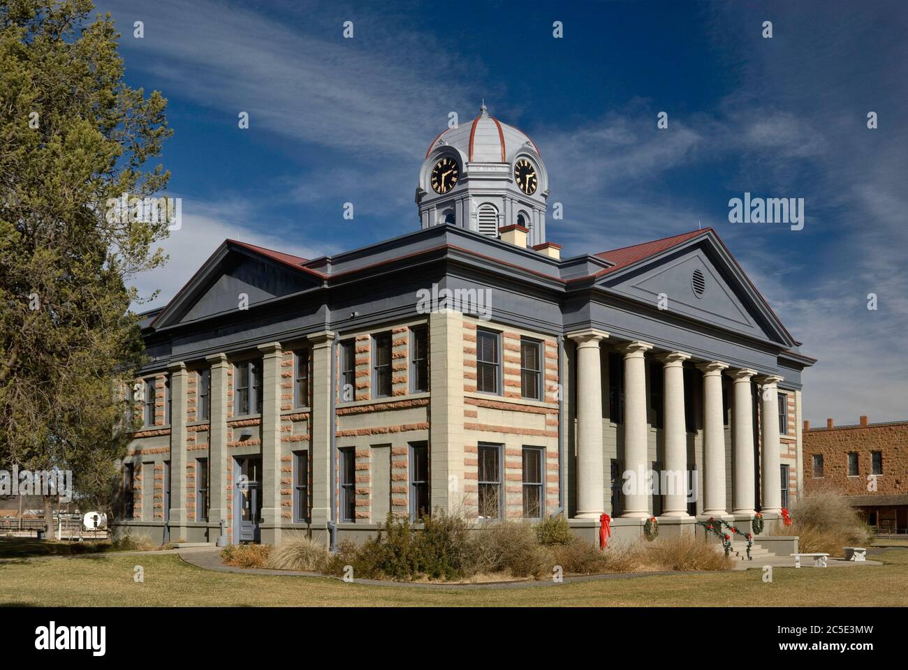
M 848 498 L 834 490 L 812 491 L 791 509 L 792 525 L 778 524 L 777 533 L 798 536 L 798 551 L 841 556 L 842 547 L 864 546 L 872 533 Z

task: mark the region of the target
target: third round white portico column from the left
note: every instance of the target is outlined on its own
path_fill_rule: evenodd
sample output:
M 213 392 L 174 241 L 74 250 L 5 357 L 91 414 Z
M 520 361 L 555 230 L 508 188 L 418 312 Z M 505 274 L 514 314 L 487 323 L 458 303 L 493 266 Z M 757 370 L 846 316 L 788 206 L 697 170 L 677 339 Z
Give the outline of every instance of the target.
M 684 406 L 684 361 L 690 354 L 672 351 L 658 357 L 663 363 L 664 429 L 666 445 L 666 491 L 664 517 L 687 517 L 687 427 Z

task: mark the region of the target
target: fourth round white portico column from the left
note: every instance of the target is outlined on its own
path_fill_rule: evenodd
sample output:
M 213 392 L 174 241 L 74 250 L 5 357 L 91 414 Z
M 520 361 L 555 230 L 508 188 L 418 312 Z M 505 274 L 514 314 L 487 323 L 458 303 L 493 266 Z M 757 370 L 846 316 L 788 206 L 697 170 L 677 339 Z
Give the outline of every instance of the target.
M 703 371 L 703 514 L 725 516 L 725 417 L 722 415 L 722 370 L 714 360 L 696 366 Z

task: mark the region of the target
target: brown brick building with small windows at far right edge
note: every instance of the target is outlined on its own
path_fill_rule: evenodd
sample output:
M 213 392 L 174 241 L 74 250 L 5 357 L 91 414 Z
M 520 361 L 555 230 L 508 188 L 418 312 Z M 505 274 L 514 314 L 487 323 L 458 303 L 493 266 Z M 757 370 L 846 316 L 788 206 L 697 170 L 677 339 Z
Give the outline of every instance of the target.
M 843 491 L 878 532 L 908 532 L 908 421 L 804 421 L 803 434 L 806 490 Z

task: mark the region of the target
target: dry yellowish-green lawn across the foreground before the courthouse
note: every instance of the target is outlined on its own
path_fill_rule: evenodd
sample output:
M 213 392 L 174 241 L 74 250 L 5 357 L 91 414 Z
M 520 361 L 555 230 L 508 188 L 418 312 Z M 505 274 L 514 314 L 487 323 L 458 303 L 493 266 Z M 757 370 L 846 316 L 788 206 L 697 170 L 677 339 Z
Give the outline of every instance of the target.
M 175 555 L 92 554 L 0 562 L 0 605 L 40 606 L 908 606 L 908 551 L 883 566 L 775 568 L 495 589 L 365 586 L 212 572 Z M 143 567 L 144 581 L 133 581 Z

